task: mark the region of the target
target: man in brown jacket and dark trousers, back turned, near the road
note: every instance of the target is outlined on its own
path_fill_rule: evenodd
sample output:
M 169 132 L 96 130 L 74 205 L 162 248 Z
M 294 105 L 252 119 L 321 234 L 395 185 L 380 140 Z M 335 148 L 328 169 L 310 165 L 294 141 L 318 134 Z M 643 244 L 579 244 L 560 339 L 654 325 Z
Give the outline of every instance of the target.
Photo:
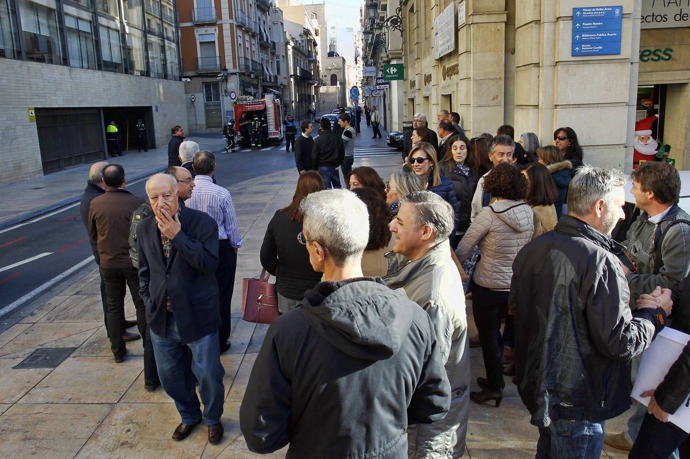
M 88 227 L 90 238 L 97 243 L 99 272 L 106 285 L 110 350 L 115 356 L 115 363 L 122 363 L 127 354 L 122 339 L 125 331 L 126 287 L 129 287 L 137 310 L 139 334 L 146 336 L 144 303 L 139 297 L 139 276 L 129 256 L 130 218 L 144 200 L 125 190 L 125 171 L 119 164 L 103 168 L 103 182 L 106 192 L 91 201 Z

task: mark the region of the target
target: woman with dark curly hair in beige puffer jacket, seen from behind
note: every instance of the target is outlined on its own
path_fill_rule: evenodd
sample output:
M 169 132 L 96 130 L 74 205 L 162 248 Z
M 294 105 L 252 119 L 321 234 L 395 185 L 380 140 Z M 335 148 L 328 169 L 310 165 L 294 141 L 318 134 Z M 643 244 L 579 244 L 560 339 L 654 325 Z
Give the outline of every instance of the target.
M 482 208 L 457 247 L 457 258 L 464 261 L 479 245 L 482 255 L 472 274 L 472 312 L 482 343 L 486 378 L 477 378 L 482 388 L 471 392 L 476 403 L 503 399 L 503 343 L 501 320 L 508 311 L 508 294 L 517 252 L 532 238 L 533 212 L 523 201 L 527 183 L 511 164 L 502 163 L 484 179 L 484 191 L 496 201 Z

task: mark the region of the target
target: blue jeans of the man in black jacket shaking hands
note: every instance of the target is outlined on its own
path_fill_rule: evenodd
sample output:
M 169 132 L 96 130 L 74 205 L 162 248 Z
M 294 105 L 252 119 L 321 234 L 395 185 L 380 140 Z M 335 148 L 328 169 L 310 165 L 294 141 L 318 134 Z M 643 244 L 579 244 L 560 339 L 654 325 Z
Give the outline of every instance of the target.
M 599 459 L 604 422 L 557 419 L 539 428 L 535 459 Z

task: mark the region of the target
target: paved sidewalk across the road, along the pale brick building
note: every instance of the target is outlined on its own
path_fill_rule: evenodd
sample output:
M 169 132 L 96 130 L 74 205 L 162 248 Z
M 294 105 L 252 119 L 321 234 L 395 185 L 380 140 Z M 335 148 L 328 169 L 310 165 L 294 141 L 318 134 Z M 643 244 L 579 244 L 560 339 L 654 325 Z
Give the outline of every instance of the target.
M 222 143 L 219 141 L 220 137 L 219 132 L 213 136 L 210 132 L 192 132 L 186 140 L 199 143 L 201 150 L 215 150 Z M 127 181 L 132 182 L 168 167 L 168 144 L 148 152 L 129 150 L 124 152 L 124 156 L 104 161 L 123 165 L 127 172 Z M 3 204 L 0 206 L 0 230 L 79 201 L 91 164 L 81 164 L 35 179 L 0 186 L 0 193 L 3 195 Z

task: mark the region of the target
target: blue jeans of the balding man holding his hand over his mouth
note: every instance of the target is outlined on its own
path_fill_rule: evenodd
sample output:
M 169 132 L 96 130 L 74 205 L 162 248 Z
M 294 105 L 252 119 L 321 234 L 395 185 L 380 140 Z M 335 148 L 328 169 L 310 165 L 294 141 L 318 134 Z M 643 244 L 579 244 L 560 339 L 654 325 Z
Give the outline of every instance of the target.
M 220 422 L 225 398 L 225 369 L 220 363 L 218 332 L 199 338 L 193 343 L 184 344 L 179 338 L 175 318 L 168 314 L 167 319 L 165 337 L 158 336 L 150 330 L 161 386 L 166 394 L 175 400 L 182 422 L 187 425 L 195 424 L 201 419 L 199 398 L 194 384 L 196 376 L 201 401 L 204 402 L 206 424 Z

